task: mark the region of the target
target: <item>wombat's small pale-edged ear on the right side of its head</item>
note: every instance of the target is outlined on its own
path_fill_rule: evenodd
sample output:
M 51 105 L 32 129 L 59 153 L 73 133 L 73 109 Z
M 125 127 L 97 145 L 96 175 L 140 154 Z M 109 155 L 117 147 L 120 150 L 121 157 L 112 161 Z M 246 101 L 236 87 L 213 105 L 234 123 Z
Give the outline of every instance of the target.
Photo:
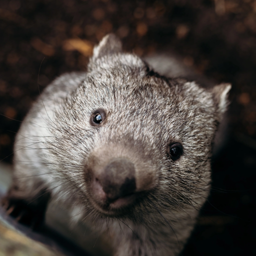
M 215 85 L 212 88 L 212 93 L 217 103 L 217 109 L 220 114 L 219 116 L 220 118 L 222 117 L 223 113 L 226 111 L 226 108 L 229 104 L 228 92 L 230 89 L 231 89 L 230 83 L 220 83 L 218 85 Z

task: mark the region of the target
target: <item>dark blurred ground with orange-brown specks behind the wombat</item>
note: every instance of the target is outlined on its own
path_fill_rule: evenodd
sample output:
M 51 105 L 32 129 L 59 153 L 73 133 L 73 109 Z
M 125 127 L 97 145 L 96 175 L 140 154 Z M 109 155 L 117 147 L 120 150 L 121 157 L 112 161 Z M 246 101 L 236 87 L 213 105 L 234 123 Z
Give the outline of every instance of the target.
M 168 48 L 196 73 L 232 83 L 212 192 L 182 255 L 256 255 L 256 0 L 0 0 L 0 159 L 12 161 L 39 90 L 86 70 L 109 32 L 127 51 Z

